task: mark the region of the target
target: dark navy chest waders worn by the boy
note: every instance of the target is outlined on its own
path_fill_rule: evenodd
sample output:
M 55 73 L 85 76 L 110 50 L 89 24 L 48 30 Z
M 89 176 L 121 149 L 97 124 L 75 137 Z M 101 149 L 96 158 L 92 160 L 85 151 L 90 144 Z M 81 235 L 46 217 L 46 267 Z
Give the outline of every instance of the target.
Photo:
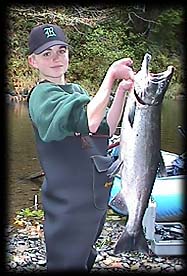
M 48 270 L 90 271 L 110 192 L 108 138 L 71 136 L 44 143 L 36 129 L 35 134 L 45 173 L 41 193 Z M 99 155 L 104 157 L 98 161 Z

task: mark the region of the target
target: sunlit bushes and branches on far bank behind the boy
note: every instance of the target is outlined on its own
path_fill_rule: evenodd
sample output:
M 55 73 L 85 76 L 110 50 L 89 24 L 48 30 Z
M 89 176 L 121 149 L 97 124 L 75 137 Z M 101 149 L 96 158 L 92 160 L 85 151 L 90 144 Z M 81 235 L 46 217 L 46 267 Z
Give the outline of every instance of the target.
M 184 9 L 179 6 L 31 6 L 7 9 L 7 90 L 20 92 L 37 81 L 27 64 L 28 35 L 41 23 L 59 24 L 70 49 L 67 81 L 81 84 L 94 95 L 108 66 L 131 57 L 138 70 L 146 51 L 152 53 L 151 70 L 174 65 L 175 74 L 167 95 L 184 92 Z

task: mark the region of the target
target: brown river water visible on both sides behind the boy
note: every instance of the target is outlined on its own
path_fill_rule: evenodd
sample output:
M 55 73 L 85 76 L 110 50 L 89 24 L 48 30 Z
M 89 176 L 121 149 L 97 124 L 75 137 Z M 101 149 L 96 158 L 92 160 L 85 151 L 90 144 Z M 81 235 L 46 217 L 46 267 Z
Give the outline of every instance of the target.
M 178 154 L 184 151 L 184 138 L 177 130 L 177 126 L 184 127 L 185 104 L 184 100 L 164 100 L 161 114 L 161 149 Z M 38 196 L 40 203 L 42 178 L 36 179 L 35 182 L 28 180 L 31 175 L 41 171 L 41 168 L 26 103 L 9 103 L 6 107 L 7 206 L 8 220 L 12 223 L 16 211 L 33 206 L 35 195 Z

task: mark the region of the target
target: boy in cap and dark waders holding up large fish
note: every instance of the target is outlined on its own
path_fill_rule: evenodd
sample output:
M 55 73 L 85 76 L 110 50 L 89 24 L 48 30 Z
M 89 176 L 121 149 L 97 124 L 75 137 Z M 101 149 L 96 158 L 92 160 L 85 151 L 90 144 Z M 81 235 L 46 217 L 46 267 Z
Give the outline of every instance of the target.
M 107 169 L 108 139 L 121 119 L 125 91 L 133 88 L 132 60 L 114 62 L 90 99 L 78 84 L 66 83 L 68 43 L 53 24 L 32 29 L 29 64 L 39 83 L 28 99 L 41 167 L 45 173 L 42 204 L 45 214 L 48 271 L 90 271 L 107 211 L 111 182 Z M 115 80 L 122 80 L 108 109 Z

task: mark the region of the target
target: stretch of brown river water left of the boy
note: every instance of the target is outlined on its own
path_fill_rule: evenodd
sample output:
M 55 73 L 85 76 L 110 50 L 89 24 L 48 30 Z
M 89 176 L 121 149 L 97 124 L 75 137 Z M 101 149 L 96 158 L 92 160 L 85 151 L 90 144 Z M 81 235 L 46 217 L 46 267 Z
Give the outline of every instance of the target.
M 34 133 L 28 116 L 26 103 L 7 105 L 8 116 L 8 213 L 33 205 L 40 185 L 27 180 L 33 172 L 40 170 L 34 144 Z

